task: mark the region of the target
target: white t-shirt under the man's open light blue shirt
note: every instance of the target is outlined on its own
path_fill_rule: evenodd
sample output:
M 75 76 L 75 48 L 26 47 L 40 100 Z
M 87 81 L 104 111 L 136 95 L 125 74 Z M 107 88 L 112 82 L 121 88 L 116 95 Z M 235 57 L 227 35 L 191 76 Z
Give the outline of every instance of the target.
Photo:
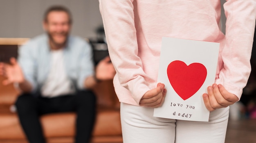
M 51 51 L 49 75 L 41 88 L 43 97 L 53 98 L 75 92 L 72 81 L 67 77 L 64 65 L 63 50 Z

